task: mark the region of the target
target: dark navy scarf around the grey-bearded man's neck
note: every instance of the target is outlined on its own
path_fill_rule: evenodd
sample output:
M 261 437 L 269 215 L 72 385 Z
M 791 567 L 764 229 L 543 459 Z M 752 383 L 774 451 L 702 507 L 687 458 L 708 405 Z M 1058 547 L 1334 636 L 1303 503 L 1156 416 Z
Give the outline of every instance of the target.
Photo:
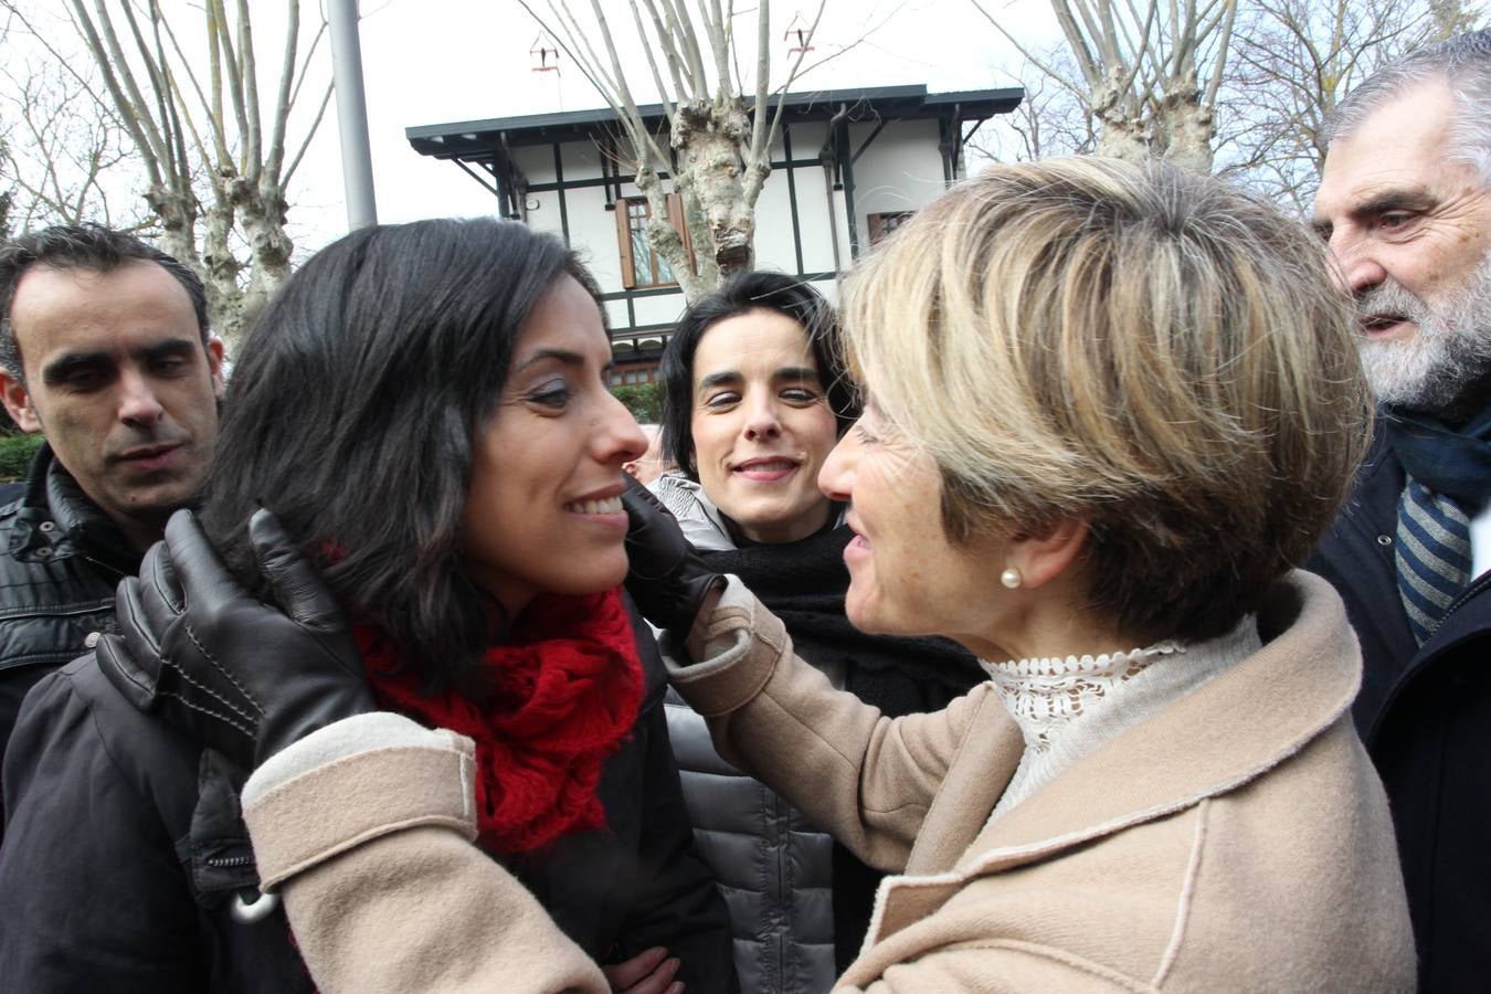
M 1479 514 L 1491 498 L 1491 404 L 1460 425 L 1391 407 L 1384 417 L 1388 444 L 1408 475 L 1470 517 Z

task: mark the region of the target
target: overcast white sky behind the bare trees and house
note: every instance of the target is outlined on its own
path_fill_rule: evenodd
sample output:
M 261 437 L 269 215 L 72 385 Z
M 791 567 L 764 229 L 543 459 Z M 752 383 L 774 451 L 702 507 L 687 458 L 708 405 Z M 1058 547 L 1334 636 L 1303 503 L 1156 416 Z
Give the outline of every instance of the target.
M 303 55 L 319 24 L 318 9 L 324 0 L 300 3 Z M 589 7 L 587 0 L 571 3 Z M 623 60 L 635 69 L 629 82 L 638 103 L 656 101 L 656 92 L 646 85 L 652 75 L 635 39 L 628 0 L 602 3 Z M 983 3 L 1036 51 L 1048 51 L 1060 40 L 1047 0 Z M 27 66 L 45 66 L 52 60 L 49 52 L 60 52 L 67 61 L 86 63 L 89 57 L 69 24 L 64 4 L 58 0 L 22 0 L 21 6 L 27 21 L 46 39 L 46 46 L 30 42 L 25 31 L 12 22 L 3 49 L 7 72 L 18 79 L 25 77 Z M 534 0 L 534 6 L 543 7 L 544 0 Z M 774 0 L 774 85 L 786 76 L 790 45 L 783 34 L 799 18 L 808 24 L 816 6 L 817 0 Z M 194 72 L 206 82 L 200 0 L 161 0 L 161 9 L 166 24 L 192 54 Z M 268 116 L 268 101 L 279 82 L 286 7 L 283 0 L 255 0 L 250 9 L 259 95 Z M 417 155 L 404 137 L 406 128 L 583 110 L 605 103 L 565 57 L 561 57 L 558 73 L 532 70 L 529 49 L 540 28 L 517 0 L 361 0 L 361 10 L 379 221 L 468 216 L 494 210 L 494 197 L 458 165 Z M 754 54 L 754 0 L 741 0 L 735 24 L 743 36 L 751 39 L 746 46 L 748 60 Z M 124 30 L 122 21 L 119 30 Z M 816 60 L 825 61 L 814 67 Z M 1017 85 L 1023 58 L 971 0 L 828 0 L 805 67 L 808 72 L 798 77 L 793 91 L 923 83 L 930 92 L 945 92 Z M 748 73 L 753 63 L 746 69 Z M 324 37 L 291 118 L 289 153 L 303 139 L 330 79 L 331 51 Z M 137 197 L 140 182 L 142 173 L 133 165 L 121 167 L 112 182 L 104 179 L 113 215 L 128 216 L 128 210 L 119 209 L 118 203 Z M 304 258 L 346 231 L 341 191 L 341 153 L 332 101 L 291 180 L 289 234 L 297 256 Z

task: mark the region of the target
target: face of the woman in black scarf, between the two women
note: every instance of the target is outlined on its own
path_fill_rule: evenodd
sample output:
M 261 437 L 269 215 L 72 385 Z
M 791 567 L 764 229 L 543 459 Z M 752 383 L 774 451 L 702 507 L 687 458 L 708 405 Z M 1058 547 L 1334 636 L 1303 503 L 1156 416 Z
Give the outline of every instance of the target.
M 717 322 L 693 353 L 693 462 L 716 507 L 756 542 L 790 542 L 823 528 L 819 490 L 838 420 L 808 332 L 775 310 Z

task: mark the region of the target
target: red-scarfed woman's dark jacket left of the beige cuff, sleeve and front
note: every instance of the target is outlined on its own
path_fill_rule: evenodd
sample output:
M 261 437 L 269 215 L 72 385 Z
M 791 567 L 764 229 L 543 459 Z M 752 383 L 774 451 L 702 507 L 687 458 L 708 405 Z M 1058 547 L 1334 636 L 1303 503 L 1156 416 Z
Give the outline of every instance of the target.
M 258 873 L 225 763 L 92 656 L 36 686 L 4 759 L 0 990 L 312 990 L 283 909 L 233 915 Z

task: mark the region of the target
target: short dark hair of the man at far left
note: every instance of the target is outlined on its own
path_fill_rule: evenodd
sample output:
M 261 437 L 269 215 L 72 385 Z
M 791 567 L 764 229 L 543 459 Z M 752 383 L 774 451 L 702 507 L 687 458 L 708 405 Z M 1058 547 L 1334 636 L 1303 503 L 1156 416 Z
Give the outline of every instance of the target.
M 212 334 L 207 323 L 207 292 L 189 267 L 122 231 L 95 224 L 55 225 L 28 231 L 0 246 L 0 367 L 25 382 L 21 344 L 15 340 L 15 328 L 10 325 L 10 304 L 15 303 L 15 288 L 22 276 L 33 268 L 112 273 L 130 262 L 155 262 L 176 277 L 191 298 L 192 310 L 197 313 L 197 328 L 201 332 L 201 347 L 206 349 Z

